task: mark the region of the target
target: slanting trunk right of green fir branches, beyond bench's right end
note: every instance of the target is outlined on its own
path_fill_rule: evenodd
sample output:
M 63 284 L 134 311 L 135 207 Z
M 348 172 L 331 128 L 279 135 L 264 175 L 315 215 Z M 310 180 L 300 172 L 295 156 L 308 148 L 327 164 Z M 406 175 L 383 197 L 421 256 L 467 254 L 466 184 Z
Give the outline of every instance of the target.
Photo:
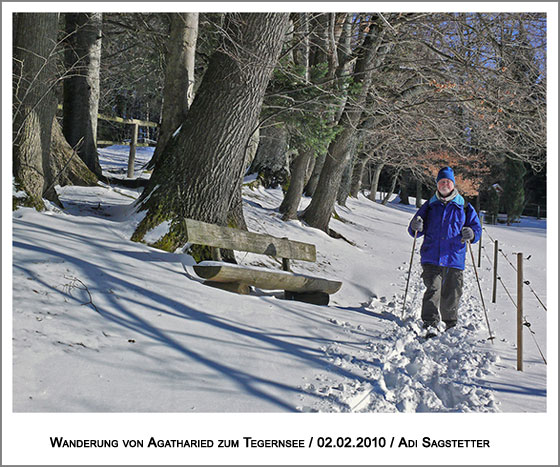
M 374 38 L 376 32 L 378 35 Z M 358 85 L 358 91 L 353 99 L 348 99 L 346 102 L 339 122 L 342 130 L 329 145 L 317 189 L 311 203 L 302 215 L 302 220 L 308 225 L 325 232 L 328 232 L 342 172 L 348 163 L 349 149 L 361 120 L 362 106 L 371 85 L 374 68 L 372 65 L 375 63 L 374 57 L 381 36 L 382 32 L 372 25 L 372 30 L 364 41 L 354 70 L 354 83 Z

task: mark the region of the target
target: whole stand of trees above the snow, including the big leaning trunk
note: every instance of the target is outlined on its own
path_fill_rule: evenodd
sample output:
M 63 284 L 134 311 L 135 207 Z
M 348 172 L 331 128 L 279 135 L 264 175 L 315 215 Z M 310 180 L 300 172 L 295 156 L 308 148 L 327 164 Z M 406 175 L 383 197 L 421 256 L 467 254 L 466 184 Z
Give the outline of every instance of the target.
M 421 200 L 442 165 L 487 221 L 546 215 L 545 13 L 16 13 L 13 25 L 13 175 L 28 195 L 14 206 L 95 184 L 98 147 L 135 140 L 156 149 L 133 239 L 169 222 L 167 250 L 184 217 L 246 228 L 250 173 L 283 188 L 284 219 L 332 235 L 349 196 Z

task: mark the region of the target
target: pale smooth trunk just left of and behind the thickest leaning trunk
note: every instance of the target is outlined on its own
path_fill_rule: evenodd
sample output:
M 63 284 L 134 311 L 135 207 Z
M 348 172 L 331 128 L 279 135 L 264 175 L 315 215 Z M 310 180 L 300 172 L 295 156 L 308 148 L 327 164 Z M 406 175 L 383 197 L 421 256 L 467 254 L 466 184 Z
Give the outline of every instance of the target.
M 171 135 L 185 120 L 194 99 L 194 65 L 198 13 L 170 13 L 161 125 L 157 146 L 148 167 L 153 168 Z

